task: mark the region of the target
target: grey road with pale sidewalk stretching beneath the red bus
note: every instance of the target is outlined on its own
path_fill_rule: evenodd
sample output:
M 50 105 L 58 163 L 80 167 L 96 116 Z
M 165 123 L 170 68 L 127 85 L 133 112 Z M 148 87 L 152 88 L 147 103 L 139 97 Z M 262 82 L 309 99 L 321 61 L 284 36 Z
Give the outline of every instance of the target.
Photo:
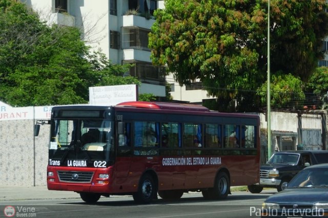
M 137 205 L 130 196 L 114 196 L 88 205 L 74 192 L 7 187 L 0 188 L 0 217 L 7 217 L 5 213 L 12 209 L 14 217 L 257 217 L 262 202 L 274 192 L 232 192 L 224 201 L 206 201 L 200 193 L 193 192 L 183 194 L 179 201 L 159 198 L 149 205 Z

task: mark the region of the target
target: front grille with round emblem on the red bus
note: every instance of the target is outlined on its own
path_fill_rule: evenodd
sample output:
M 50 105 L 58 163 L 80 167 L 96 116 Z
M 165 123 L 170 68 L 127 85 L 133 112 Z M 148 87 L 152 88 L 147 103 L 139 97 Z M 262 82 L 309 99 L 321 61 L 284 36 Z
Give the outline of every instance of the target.
M 90 183 L 93 176 L 93 172 L 84 171 L 58 171 L 57 173 L 60 182 Z

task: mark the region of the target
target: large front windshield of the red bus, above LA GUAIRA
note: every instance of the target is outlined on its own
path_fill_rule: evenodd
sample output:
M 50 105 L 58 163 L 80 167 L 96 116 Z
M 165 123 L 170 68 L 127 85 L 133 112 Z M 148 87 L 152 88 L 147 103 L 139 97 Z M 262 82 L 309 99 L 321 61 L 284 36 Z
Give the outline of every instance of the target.
M 114 153 L 113 121 L 100 119 L 54 119 L 51 124 L 49 160 L 96 160 L 109 165 Z M 58 163 L 58 162 L 57 162 Z

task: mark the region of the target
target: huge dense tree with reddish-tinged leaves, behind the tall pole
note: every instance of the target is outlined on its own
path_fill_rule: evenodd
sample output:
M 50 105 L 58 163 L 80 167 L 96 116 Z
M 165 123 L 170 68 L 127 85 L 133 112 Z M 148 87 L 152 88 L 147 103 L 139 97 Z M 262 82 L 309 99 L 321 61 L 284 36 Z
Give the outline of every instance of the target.
M 180 84 L 199 79 L 210 95 L 236 101 L 238 111 L 257 110 L 266 102 L 267 4 L 167 0 L 150 33 L 153 63 L 167 66 Z M 328 33 L 324 8 L 324 0 L 271 1 L 271 79 L 306 81 L 313 73 Z M 273 98 L 273 106 L 283 106 Z

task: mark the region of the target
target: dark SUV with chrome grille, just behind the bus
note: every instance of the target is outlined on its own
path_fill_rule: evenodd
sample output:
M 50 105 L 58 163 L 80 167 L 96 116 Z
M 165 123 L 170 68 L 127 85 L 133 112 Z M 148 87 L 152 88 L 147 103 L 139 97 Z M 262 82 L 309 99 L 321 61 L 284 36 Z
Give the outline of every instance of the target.
M 286 183 L 303 168 L 328 163 L 327 150 L 288 150 L 275 152 L 268 163 L 261 165 L 260 182 L 249 185 L 252 193 L 260 193 L 264 187 L 281 191 Z

